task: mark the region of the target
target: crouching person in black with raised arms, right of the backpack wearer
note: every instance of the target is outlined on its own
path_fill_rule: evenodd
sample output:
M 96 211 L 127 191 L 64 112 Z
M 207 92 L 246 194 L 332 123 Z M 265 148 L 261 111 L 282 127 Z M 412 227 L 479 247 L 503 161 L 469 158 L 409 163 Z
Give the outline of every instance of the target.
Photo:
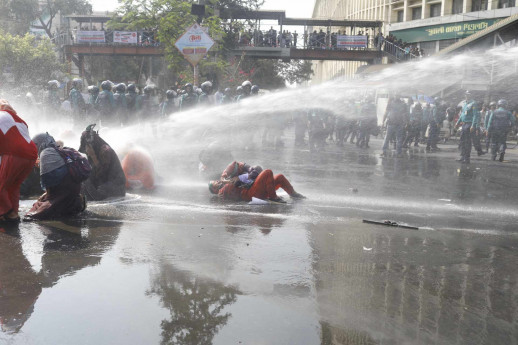
M 126 195 L 126 176 L 115 151 L 89 125 L 81 135 L 79 152 L 85 153 L 92 166 L 88 180 L 83 183 L 87 200 L 98 201 Z

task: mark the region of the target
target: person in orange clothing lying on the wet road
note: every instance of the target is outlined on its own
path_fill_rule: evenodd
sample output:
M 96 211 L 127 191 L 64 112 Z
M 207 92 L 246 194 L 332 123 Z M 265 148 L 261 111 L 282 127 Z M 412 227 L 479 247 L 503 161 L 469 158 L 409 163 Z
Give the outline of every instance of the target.
M 232 177 L 229 180 L 211 181 L 209 183 L 209 190 L 212 194 L 217 194 L 224 200 L 251 201 L 252 197 L 255 197 L 284 203 L 285 201 L 277 196 L 275 192 L 279 188 L 284 189 L 292 199 L 305 198 L 302 194 L 295 192 L 293 186 L 284 175 L 278 174 L 274 176 L 269 169 L 263 170 L 250 187 L 248 187 L 250 183 L 247 182 L 251 181 L 248 181 L 247 178 L 248 174 L 245 173 Z

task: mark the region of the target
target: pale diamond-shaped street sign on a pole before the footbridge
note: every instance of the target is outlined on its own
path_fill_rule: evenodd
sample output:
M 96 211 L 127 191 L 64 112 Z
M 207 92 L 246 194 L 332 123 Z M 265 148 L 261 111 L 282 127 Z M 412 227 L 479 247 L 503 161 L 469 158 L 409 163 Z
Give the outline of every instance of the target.
M 182 55 L 196 66 L 214 45 L 214 41 L 206 33 L 206 29 L 194 24 L 176 41 L 175 47 Z

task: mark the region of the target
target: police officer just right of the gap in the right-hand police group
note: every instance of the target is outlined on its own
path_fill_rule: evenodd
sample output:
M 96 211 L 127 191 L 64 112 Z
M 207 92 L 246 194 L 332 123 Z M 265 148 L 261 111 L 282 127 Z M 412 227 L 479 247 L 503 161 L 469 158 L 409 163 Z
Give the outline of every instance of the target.
M 408 108 L 401 100 L 400 96 L 396 96 L 392 102 L 387 105 L 387 110 L 383 116 L 383 124 L 387 124 L 387 133 L 385 134 L 385 141 L 383 142 L 382 156 L 386 157 L 388 154 L 390 139 L 396 139 L 396 152 L 398 156 L 403 153 L 403 136 L 405 126 L 408 122 Z

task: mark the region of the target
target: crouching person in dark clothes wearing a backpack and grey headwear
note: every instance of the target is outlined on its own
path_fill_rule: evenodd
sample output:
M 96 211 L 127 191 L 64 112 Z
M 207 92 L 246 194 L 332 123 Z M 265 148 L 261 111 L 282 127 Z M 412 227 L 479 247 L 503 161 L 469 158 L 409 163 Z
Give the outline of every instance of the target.
M 84 211 L 86 199 L 81 195 L 81 182 L 70 174 L 54 138 L 42 133 L 35 136 L 33 141 L 38 147 L 41 187 L 45 193 L 32 205 L 25 219 L 55 219 L 75 216 Z M 79 155 L 74 149 L 67 150 Z

